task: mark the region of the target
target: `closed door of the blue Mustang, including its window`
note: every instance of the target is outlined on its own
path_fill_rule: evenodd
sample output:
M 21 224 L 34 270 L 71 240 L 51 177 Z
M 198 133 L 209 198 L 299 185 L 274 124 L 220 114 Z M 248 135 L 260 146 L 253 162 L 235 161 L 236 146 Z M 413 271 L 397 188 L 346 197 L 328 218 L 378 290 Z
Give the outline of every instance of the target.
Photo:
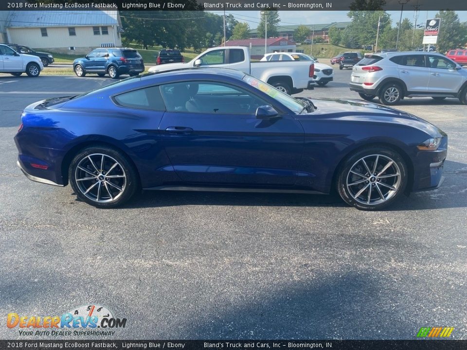
M 293 185 L 304 143 L 292 116 L 260 120 L 255 94 L 217 82 L 161 86 L 166 112 L 159 130 L 179 175 L 189 183 Z

